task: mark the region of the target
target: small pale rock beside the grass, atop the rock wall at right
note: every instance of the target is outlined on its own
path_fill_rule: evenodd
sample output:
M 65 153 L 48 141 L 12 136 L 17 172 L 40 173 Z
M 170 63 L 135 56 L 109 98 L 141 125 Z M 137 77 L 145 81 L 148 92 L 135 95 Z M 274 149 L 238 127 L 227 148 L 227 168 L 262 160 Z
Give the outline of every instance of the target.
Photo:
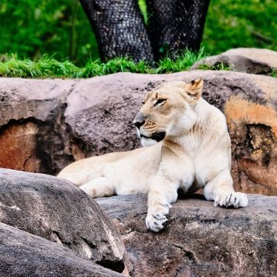
M 216 66 L 221 63 L 234 71 L 268 74 L 273 69 L 277 69 L 277 52 L 258 48 L 235 48 L 220 55 L 206 57 L 193 64 L 192 69 L 199 69 L 203 65 Z

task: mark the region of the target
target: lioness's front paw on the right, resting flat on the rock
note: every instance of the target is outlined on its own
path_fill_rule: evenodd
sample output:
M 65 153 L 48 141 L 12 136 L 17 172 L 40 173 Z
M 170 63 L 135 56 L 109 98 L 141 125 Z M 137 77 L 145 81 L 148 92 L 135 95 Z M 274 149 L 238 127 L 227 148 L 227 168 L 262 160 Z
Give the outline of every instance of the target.
M 215 206 L 230 207 L 234 208 L 246 207 L 248 204 L 247 195 L 244 193 L 226 193 L 217 195 L 215 198 Z

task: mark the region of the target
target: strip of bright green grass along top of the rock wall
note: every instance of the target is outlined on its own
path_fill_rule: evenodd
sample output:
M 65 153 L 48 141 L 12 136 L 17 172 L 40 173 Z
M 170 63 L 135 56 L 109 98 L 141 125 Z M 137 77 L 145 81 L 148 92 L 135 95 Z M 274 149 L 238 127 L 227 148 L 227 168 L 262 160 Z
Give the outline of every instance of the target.
M 75 66 L 69 60 L 58 62 L 46 55 L 35 59 L 21 60 L 17 55 L 2 56 L 0 58 L 0 77 L 21 78 L 89 78 L 116 72 L 133 73 L 172 73 L 190 69 L 197 60 L 205 57 L 203 48 L 199 53 L 184 51 L 175 61 L 165 57 L 156 67 L 147 62 L 134 62 L 127 57 L 117 57 L 106 63 L 100 60 L 88 60 L 84 67 Z

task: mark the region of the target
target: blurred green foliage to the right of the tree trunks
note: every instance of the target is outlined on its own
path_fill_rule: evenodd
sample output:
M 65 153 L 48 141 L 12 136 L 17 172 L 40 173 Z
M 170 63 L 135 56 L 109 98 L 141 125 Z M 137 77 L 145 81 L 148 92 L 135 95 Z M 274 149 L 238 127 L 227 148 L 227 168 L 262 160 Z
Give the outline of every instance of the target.
M 212 0 L 202 45 L 217 54 L 237 47 L 277 51 L 276 0 Z

